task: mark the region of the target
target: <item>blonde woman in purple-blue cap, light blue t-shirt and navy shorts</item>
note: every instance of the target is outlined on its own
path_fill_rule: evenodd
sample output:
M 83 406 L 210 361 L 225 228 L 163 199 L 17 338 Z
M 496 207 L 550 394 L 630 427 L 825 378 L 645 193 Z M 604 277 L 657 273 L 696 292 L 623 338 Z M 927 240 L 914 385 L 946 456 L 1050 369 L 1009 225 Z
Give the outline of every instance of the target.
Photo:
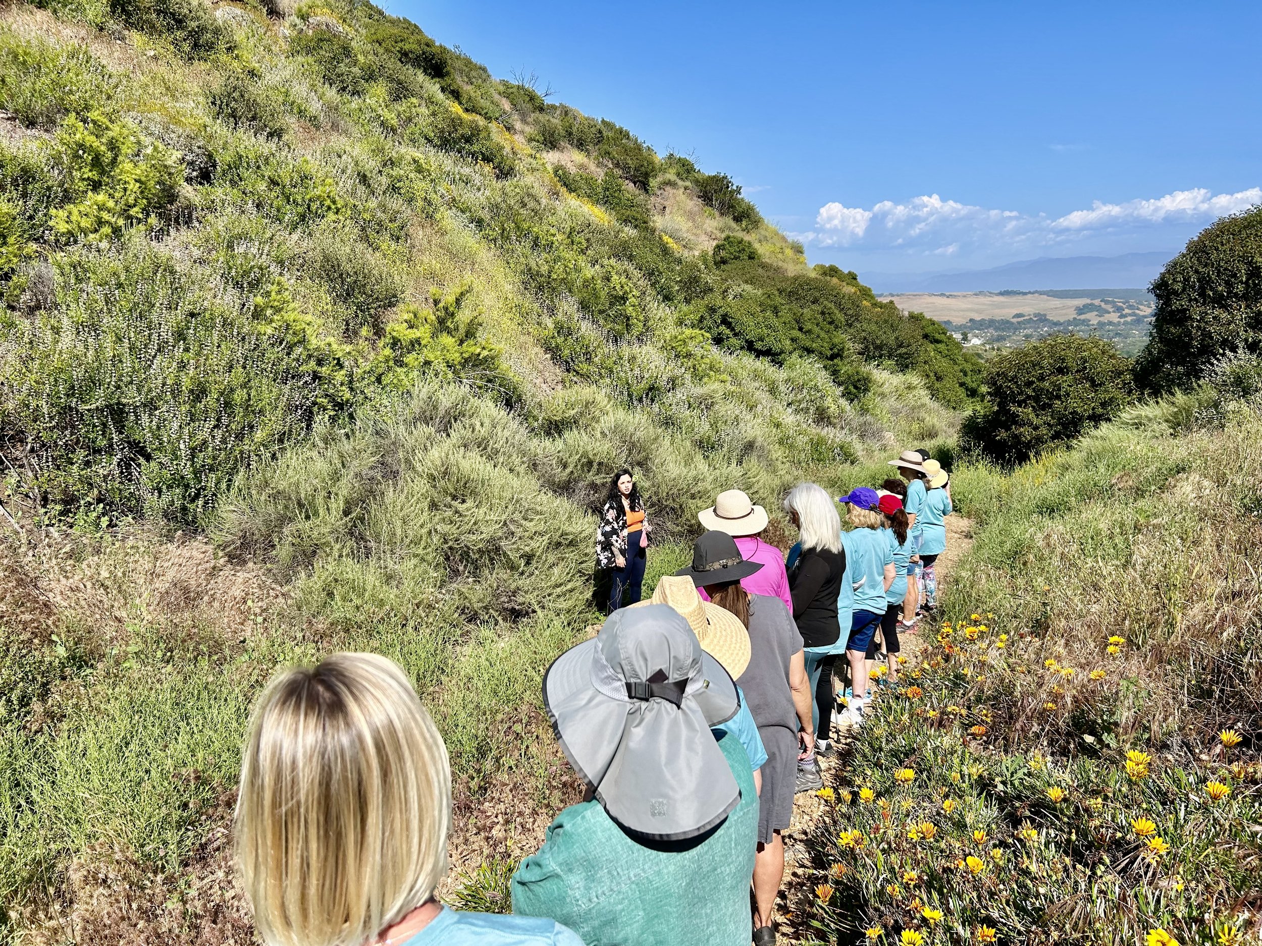
M 854 616 L 851 618 L 851 637 L 846 645 L 846 657 L 851 663 L 849 704 L 851 725 L 862 725 L 863 706 L 867 701 L 867 648 L 886 612 L 886 592 L 893 584 L 893 552 L 881 531 L 881 515 L 876 489 L 861 486 L 839 502 L 849 506 L 851 530 L 846 547 L 851 551 L 851 574 L 854 578 Z

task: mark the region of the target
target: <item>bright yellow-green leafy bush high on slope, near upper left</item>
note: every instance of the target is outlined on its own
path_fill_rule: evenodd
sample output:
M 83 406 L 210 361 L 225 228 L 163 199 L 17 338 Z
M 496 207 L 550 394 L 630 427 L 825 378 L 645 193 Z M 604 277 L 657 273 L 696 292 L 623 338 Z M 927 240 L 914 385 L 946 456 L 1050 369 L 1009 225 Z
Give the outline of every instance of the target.
M 155 227 L 184 180 L 179 155 L 134 125 L 91 112 L 57 134 L 53 161 L 69 201 L 50 214 L 62 242 L 105 243 L 129 227 Z

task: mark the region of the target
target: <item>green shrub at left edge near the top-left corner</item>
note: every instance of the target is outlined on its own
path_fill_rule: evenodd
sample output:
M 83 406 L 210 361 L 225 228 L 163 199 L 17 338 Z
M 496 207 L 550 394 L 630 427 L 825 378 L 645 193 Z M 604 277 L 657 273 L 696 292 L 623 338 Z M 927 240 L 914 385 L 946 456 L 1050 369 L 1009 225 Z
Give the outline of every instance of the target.
M 107 105 L 119 81 L 82 45 L 49 45 L 0 32 L 0 108 L 23 125 L 53 127 Z

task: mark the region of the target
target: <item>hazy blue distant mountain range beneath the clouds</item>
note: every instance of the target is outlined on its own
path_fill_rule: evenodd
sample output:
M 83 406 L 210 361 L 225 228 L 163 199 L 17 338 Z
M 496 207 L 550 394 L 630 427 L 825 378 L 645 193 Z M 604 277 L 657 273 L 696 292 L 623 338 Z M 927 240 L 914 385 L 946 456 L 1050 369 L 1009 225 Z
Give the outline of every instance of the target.
M 1060 256 L 963 272 L 859 272 L 876 293 L 998 293 L 1005 289 L 1145 289 L 1176 252 Z

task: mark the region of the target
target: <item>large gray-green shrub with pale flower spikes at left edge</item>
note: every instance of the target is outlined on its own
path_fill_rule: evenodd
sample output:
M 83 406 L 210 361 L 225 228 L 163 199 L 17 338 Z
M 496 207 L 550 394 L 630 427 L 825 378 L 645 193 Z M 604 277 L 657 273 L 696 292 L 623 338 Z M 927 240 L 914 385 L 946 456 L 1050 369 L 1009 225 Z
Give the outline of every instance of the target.
M 4 436 L 53 505 L 191 521 L 303 433 L 319 373 L 148 246 L 54 260 L 57 305 L 0 328 Z

